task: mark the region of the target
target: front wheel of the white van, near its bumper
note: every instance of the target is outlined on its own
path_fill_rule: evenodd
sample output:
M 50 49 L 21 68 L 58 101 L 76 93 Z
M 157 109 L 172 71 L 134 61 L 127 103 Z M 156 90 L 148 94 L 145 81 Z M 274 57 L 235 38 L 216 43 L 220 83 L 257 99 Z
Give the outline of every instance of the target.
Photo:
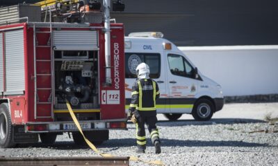
M 213 103 L 207 99 L 199 99 L 194 104 L 192 116 L 195 120 L 210 120 L 215 112 Z

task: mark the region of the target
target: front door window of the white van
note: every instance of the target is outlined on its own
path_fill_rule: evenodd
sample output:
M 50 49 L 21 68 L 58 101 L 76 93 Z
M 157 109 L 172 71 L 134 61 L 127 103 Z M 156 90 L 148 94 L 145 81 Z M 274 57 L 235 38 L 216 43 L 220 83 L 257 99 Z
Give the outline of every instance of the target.
M 168 63 L 173 75 L 194 78 L 193 67 L 181 55 L 168 54 Z

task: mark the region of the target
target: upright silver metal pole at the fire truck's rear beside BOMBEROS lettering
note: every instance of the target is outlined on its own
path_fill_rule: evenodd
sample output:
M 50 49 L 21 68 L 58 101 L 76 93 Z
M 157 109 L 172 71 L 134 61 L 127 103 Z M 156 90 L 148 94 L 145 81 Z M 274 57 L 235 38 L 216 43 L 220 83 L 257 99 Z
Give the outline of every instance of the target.
M 111 39 L 110 39 L 110 8 L 111 1 L 104 0 L 104 39 L 105 39 L 105 76 L 106 76 L 106 86 L 112 84 L 111 80 Z

